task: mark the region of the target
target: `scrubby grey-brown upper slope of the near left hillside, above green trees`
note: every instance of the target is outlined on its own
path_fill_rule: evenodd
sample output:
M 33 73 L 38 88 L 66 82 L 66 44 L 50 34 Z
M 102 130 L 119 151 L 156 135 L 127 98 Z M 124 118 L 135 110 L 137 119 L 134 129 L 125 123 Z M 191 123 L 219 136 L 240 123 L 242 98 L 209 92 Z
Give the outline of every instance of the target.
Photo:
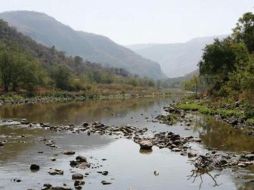
M 51 72 L 55 66 L 62 65 L 65 66 L 75 77 L 91 73 L 103 73 L 117 77 L 131 77 L 131 75 L 124 69 L 105 68 L 96 63 L 83 61 L 76 56 L 65 56 L 63 52 L 37 43 L 30 37 L 18 32 L 15 28 L 9 27 L 8 23 L 1 19 L 0 47 L 4 47 L 4 49 L 8 50 L 8 52 L 12 53 L 15 53 L 15 49 L 19 49 L 19 51 L 23 54 L 29 55 L 31 59 L 37 60 L 38 63 L 49 72 Z

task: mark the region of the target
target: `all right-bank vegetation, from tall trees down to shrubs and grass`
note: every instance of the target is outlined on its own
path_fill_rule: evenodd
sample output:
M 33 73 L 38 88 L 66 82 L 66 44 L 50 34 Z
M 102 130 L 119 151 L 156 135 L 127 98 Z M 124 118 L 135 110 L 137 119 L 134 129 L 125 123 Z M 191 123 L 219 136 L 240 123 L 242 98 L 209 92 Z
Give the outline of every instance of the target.
M 253 74 L 254 14 L 248 12 L 229 37 L 205 47 L 199 75 L 185 82 L 185 89 L 199 92 L 203 99 L 180 103 L 178 108 L 254 126 Z

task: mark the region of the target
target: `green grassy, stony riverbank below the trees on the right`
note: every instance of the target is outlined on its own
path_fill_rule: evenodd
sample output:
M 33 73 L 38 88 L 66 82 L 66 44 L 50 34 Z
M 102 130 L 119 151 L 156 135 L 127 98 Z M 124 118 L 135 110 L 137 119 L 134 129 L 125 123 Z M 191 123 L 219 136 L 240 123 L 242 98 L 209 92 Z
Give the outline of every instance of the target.
M 248 131 L 250 135 L 254 135 L 254 111 L 248 108 L 248 104 L 244 101 L 196 99 L 187 97 L 177 103 L 165 107 L 165 111 L 167 111 L 168 114 L 159 116 L 159 119 L 169 125 L 181 120 L 187 121 L 188 118 L 185 118 L 187 113 L 196 112 L 212 116 L 217 120 L 224 121 L 234 128 L 244 129 Z

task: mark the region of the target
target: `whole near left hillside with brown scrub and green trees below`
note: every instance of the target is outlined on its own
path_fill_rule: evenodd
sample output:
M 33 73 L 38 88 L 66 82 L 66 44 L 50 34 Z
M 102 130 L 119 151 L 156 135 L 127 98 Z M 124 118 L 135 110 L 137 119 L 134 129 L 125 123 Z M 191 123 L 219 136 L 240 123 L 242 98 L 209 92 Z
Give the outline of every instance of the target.
M 55 47 L 45 47 L 18 33 L 0 20 L 0 84 L 3 92 L 34 94 L 50 91 L 93 93 L 98 85 L 155 87 L 149 78 L 139 78 L 120 68 L 104 68 L 81 57 L 66 56 Z

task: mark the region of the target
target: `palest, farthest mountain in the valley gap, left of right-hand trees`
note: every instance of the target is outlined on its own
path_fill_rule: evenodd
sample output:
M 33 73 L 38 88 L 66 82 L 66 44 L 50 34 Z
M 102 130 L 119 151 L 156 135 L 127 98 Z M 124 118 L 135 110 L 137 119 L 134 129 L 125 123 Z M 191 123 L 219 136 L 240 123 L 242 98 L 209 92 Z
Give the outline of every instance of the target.
M 184 76 L 198 67 L 203 49 L 215 38 L 224 38 L 226 35 L 195 38 L 186 43 L 174 44 L 137 44 L 128 46 L 141 56 L 160 63 L 162 70 L 168 77 Z

